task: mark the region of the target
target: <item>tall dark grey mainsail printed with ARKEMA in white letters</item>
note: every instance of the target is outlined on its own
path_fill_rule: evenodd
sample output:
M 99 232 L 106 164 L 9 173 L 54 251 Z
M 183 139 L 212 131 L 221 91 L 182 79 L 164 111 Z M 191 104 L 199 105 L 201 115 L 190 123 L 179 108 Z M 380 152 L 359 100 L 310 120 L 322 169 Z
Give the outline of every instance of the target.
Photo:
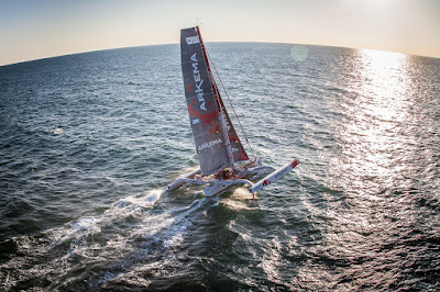
M 180 31 L 182 70 L 189 122 L 204 176 L 233 164 L 226 145 L 221 114 L 196 27 Z

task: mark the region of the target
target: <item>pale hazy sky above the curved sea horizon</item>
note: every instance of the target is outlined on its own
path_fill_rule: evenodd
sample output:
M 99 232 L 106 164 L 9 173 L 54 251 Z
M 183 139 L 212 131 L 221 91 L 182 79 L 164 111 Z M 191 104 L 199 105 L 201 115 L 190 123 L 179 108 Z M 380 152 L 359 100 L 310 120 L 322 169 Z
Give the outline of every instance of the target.
M 440 0 L 0 0 L 0 65 L 179 42 L 279 42 L 440 57 Z

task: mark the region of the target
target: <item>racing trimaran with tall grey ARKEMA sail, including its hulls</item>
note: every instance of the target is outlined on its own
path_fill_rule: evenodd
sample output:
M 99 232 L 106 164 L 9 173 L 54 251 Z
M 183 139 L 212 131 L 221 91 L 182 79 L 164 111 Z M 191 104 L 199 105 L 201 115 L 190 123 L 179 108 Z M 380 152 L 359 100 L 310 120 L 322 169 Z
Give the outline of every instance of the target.
M 256 157 L 249 158 L 220 97 L 198 26 L 180 31 L 180 54 L 189 122 L 200 168 L 177 178 L 168 184 L 168 190 L 184 184 L 202 184 L 205 195 L 212 196 L 231 186 L 248 184 L 254 194 L 290 172 L 299 164 L 298 159 L 275 169 L 262 166 Z M 271 173 L 255 183 L 251 181 L 264 172 Z

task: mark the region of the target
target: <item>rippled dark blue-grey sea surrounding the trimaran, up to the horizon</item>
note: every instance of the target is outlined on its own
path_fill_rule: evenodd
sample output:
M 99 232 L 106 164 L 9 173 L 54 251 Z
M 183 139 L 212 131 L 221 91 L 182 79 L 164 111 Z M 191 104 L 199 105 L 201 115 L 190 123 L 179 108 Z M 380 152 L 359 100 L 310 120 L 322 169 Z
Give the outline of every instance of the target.
M 0 290 L 440 290 L 440 59 L 207 47 L 255 154 L 300 165 L 165 191 L 198 164 L 178 45 L 2 66 Z

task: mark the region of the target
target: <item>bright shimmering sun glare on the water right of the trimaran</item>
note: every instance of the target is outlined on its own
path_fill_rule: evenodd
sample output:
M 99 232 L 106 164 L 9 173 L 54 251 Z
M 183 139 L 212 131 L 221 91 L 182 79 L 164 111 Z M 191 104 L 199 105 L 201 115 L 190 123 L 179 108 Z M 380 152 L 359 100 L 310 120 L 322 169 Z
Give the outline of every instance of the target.
M 336 97 L 341 117 L 332 128 L 338 147 L 327 156 L 327 183 L 344 194 L 344 203 L 329 207 L 334 221 L 323 242 L 334 258 L 387 260 L 394 256 L 374 250 L 391 237 L 389 231 L 398 233 L 391 218 L 407 215 L 400 200 L 413 190 L 410 178 L 418 171 L 419 79 L 414 59 L 404 54 L 362 49 L 340 66 L 345 83 Z M 411 226 L 411 220 L 399 224 Z M 349 273 L 358 276 L 358 268 Z M 369 281 L 380 282 L 381 274 L 372 273 Z

